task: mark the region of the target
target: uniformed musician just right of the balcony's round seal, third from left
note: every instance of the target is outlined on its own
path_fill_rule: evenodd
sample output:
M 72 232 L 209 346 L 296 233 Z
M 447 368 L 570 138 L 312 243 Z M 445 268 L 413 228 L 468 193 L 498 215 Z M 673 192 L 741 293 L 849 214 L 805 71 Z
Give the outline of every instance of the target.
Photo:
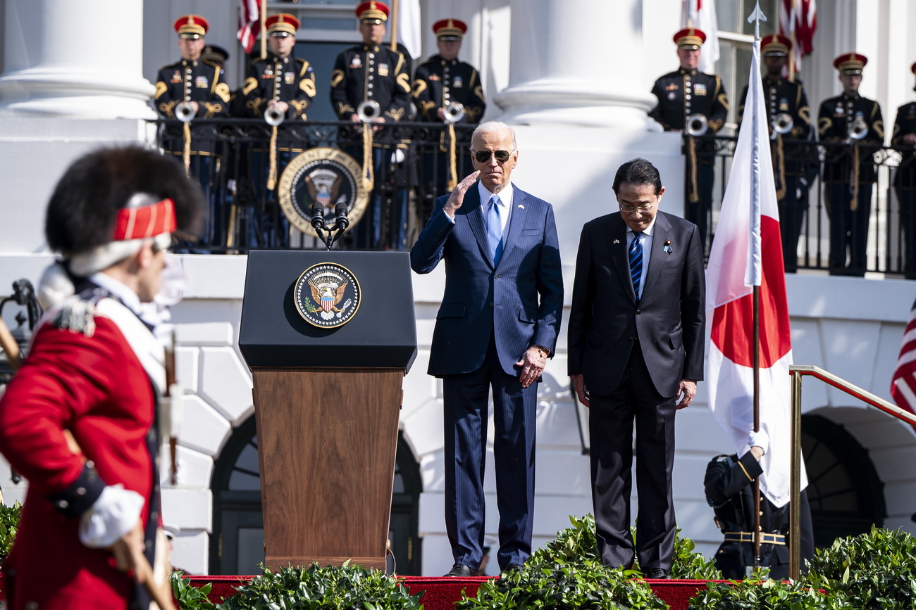
M 409 143 L 395 142 L 392 134 L 382 131 L 381 127 L 384 123 L 409 118 L 410 74 L 407 59 L 400 52 L 382 46 L 388 12 L 387 5 L 375 0 L 356 7 L 363 44 L 347 48 L 337 56 L 331 73 L 331 104 L 342 121 L 360 123 L 356 112 L 360 104 L 378 103 L 379 109 L 372 121 L 377 124 L 372 127 L 373 151 L 370 155 L 374 186 L 368 218 L 356 227 L 356 242 L 362 248 L 402 250 L 407 241 L 407 190 L 394 187 L 397 177 L 391 172 L 392 148 L 403 149 Z M 347 152 L 363 163 L 362 146 L 349 148 Z M 383 231 L 386 221 L 390 230 Z

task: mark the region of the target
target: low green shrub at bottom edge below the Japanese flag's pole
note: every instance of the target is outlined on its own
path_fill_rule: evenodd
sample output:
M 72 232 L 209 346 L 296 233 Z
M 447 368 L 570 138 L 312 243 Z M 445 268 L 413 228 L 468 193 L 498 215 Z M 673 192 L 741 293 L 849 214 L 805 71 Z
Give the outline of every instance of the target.
M 717 610 L 855 610 L 842 598 L 822 594 L 801 581 L 758 581 L 706 583 L 706 590 L 690 600 L 688 608 Z

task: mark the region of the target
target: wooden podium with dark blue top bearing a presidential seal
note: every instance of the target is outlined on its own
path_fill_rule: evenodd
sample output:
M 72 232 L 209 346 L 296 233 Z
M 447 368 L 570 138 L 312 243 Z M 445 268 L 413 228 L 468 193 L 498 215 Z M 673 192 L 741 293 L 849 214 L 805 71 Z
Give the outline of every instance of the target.
M 249 252 L 238 343 L 254 379 L 265 563 L 384 569 L 401 382 L 417 356 L 409 254 Z

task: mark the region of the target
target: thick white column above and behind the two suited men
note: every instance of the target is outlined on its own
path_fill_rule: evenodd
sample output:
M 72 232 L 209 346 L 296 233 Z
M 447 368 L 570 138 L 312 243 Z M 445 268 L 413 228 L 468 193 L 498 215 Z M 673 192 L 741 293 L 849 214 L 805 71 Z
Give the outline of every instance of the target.
M 510 123 L 660 131 L 642 83 L 642 0 L 511 0 Z

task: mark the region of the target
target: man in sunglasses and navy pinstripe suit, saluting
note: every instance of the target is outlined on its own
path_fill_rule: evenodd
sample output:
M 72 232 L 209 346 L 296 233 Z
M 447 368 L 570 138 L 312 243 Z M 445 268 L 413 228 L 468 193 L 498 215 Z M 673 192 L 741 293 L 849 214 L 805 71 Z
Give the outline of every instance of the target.
M 474 576 L 483 558 L 491 387 L 496 559 L 512 571 L 531 553 L 536 381 L 553 355 L 563 302 L 551 204 L 509 181 L 518 164 L 515 132 L 483 123 L 471 143 L 477 171 L 436 201 L 410 251 L 415 272 L 430 273 L 444 259 L 447 277 L 428 371 L 443 387 L 445 527 L 454 557 L 447 576 Z

